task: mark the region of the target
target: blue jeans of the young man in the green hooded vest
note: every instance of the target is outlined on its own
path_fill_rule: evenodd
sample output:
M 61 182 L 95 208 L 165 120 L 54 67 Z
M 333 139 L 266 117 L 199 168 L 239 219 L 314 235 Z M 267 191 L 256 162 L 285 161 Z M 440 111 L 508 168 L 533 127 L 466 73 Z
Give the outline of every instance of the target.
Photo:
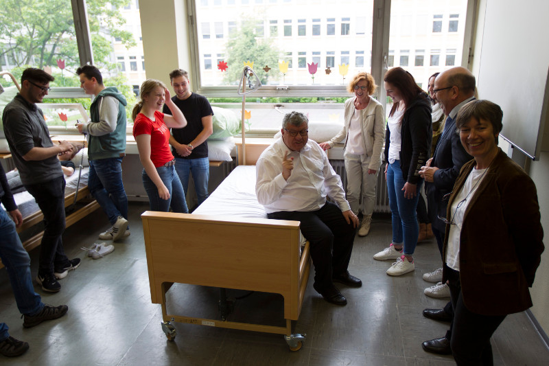
M 90 160 L 88 187 L 102 207 L 110 225 L 118 216 L 128 219 L 128 196 L 122 183 L 122 158 Z

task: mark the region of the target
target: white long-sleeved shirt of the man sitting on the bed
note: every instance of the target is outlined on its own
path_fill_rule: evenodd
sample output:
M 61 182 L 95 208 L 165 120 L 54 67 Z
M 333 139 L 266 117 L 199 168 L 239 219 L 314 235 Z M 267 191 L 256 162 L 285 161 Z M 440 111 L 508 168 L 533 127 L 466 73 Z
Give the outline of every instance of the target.
M 294 169 L 285 181 L 282 176 L 284 153 L 294 158 Z M 257 160 L 255 193 L 257 201 L 264 205 L 268 214 L 276 211 L 316 211 L 332 198 L 341 211 L 351 209 L 345 199 L 340 176 L 328 161 L 324 150 L 309 139 L 296 152 L 278 139 Z

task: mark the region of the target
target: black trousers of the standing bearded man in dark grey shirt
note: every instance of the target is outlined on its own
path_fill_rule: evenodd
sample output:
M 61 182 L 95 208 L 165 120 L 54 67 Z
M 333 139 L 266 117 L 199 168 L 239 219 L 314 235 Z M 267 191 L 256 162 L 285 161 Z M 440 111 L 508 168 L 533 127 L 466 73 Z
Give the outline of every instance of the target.
M 62 235 L 65 231 L 65 177 L 51 181 L 25 185 L 34 196 L 44 215 L 44 236 L 40 244 L 38 273 L 54 273 L 54 268 L 69 266 L 69 258 L 63 249 Z

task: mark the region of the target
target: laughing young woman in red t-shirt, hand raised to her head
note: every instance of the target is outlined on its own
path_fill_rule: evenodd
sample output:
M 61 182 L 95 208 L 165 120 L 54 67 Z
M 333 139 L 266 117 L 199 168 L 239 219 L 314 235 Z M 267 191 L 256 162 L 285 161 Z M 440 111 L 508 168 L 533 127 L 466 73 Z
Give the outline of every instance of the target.
M 148 79 L 141 84 L 141 101 L 132 111 L 133 136 L 137 141 L 139 159 L 143 164 L 143 186 L 149 196 L 152 211 L 187 213 L 185 192 L 174 168 L 174 155 L 170 149 L 170 128 L 183 128 L 187 120 L 170 99 L 159 80 Z M 172 115 L 162 113 L 166 104 Z

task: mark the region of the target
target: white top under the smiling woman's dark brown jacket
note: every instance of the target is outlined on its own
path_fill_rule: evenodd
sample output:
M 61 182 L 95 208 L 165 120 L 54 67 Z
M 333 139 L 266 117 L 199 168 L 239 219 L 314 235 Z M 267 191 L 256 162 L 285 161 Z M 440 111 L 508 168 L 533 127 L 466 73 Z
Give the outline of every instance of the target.
M 487 168 L 488 169 L 488 168 Z M 487 169 L 473 169 L 467 176 L 465 184 L 452 202 L 452 217 L 447 218 L 450 222 L 456 225 L 450 225 L 448 233 L 448 246 L 446 249 L 446 264 L 449 268 L 459 271 L 459 244 L 461 226 L 463 225 L 463 215 L 471 202 L 471 198 L 484 178 L 484 173 Z

